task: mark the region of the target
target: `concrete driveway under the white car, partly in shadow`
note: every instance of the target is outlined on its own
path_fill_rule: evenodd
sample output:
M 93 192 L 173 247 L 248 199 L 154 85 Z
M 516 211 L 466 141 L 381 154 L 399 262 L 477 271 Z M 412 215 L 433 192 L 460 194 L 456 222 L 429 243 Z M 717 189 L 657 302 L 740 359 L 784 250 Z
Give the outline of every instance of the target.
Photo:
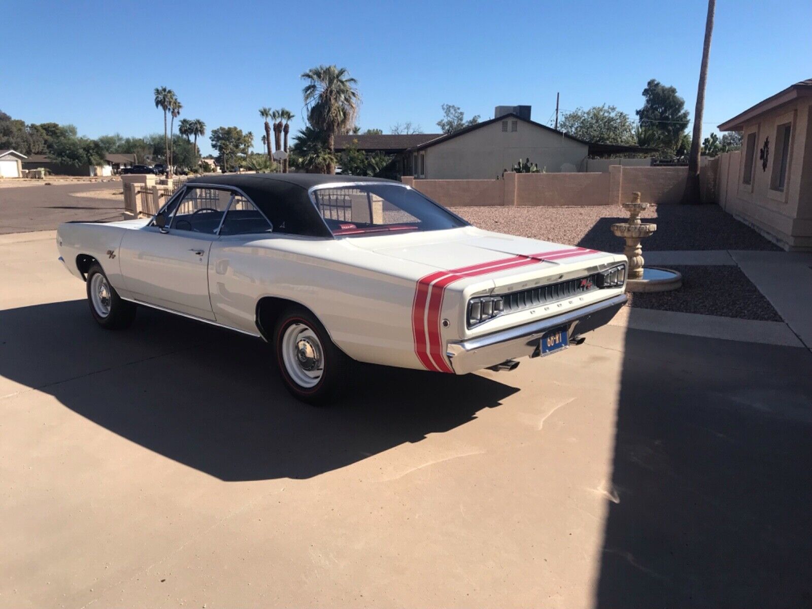
M 810 603 L 804 348 L 607 326 L 317 409 L 255 339 L 99 329 L 56 256 L 0 237 L 0 607 Z

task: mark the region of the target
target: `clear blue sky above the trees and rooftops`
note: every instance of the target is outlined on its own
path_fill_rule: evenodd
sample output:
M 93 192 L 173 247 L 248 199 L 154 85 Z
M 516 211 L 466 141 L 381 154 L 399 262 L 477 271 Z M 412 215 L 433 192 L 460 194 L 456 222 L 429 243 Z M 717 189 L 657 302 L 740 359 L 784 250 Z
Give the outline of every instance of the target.
M 28 0 L 3 11 L 0 110 L 141 136 L 162 132 L 152 92 L 166 85 L 182 117 L 253 131 L 260 147 L 258 108 L 287 107 L 301 127 L 300 74 L 336 63 L 358 79 L 361 127 L 384 132 L 408 120 L 436 132 L 443 103 L 482 119 L 529 104 L 549 123 L 556 91 L 564 110 L 607 103 L 634 118 L 650 78 L 693 115 L 706 2 L 498 4 Z M 703 133 L 812 77 L 810 24 L 810 0 L 719 0 Z

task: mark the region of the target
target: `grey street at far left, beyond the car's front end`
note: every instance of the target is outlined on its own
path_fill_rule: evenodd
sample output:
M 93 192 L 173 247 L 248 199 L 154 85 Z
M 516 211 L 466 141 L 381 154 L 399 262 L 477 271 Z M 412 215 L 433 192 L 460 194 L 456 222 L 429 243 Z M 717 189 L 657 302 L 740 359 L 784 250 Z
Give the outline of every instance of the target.
M 0 188 L 0 235 L 28 231 L 53 231 L 62 222 L 110 222 L 120 220 L 124 210 L 117 200 L 74 197 L 77 192 L 121 189 L 121 180 L 111 182 L 54 182 L 51 186 Z

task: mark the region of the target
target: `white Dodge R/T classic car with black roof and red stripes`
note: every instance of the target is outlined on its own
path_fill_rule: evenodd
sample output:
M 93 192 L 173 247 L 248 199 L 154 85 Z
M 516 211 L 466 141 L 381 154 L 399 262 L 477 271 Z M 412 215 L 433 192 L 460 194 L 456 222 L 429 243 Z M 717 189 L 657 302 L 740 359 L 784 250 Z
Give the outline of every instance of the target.
M 622 255 L 482 231 L 353 176 L 192 179 L 153 218 L 69 222 L 57 244 L 101 326 L 142 304 L 265 339 L 313 404 L 353 360 L 514 369 L 583 342 L 626 300 Z

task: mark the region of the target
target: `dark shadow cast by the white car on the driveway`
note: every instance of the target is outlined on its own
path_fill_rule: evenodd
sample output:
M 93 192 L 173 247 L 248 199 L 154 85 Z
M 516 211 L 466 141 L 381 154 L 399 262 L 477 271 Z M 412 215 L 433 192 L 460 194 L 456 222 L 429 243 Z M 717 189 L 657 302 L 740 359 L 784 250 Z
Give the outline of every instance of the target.
M 145 308 L 132 328 L 102 330 L 84 300 L 0 311 L 0 395 L 48 393 L 224 481 L 313 477 L 463 425 L 518 391 L 477 375 L 359 372 L 337 404 L 313 408 L 250 336 Z

